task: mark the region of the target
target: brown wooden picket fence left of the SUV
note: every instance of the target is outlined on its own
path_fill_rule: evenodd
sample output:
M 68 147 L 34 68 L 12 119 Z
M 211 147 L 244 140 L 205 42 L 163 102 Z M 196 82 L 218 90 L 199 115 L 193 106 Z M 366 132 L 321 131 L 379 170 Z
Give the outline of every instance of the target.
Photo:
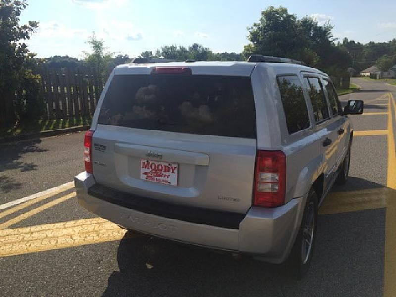
M 43 68 L 40 71 L 48 119 L 93 115 L 104 82 L 89 68 Z

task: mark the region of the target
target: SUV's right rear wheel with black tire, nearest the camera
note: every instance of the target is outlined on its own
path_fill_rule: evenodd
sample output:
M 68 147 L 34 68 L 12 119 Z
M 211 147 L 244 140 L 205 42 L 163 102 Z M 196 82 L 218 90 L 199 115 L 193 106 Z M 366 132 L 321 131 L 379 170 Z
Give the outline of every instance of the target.
M 317 217 L 318 197 L 315 190 L 311 189 L 305 203 L 296 242 L 288 259 L 288 270 L 294 278 L 302 278 L 307 273 L 311 264 L 315 248 Z

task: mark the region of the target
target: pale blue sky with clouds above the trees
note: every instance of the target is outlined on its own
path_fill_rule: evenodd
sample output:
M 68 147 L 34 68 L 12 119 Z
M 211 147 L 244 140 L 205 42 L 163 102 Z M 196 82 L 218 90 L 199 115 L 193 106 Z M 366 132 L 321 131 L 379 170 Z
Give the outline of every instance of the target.
M 330 20 L 333 36 L 356 42 L 396 38 L 395 0 L 28 0 L 20 24 L 38 21 L 27 41 L 38 57 L 83 58 L 95 32 L 114 54 L 138 56 L 164 45 L 198 43 L 214 52 L 241 52 L 247 27 L 268 6 L 283 6 L 298 18 Z

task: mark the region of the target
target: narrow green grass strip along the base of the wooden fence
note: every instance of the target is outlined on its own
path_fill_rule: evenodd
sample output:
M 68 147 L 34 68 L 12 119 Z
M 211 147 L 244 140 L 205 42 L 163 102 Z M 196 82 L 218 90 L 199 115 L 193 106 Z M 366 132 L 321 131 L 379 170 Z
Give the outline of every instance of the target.
M 0 128 L 0 137 L 32 134 L 41 131 L 70 128 L 76 126 L 88 126 L 91 125 L 91 121 L 91 116 L 57 120 L 36 120 L 30 123 L 20 123 L 15 125 L 14 127 Z

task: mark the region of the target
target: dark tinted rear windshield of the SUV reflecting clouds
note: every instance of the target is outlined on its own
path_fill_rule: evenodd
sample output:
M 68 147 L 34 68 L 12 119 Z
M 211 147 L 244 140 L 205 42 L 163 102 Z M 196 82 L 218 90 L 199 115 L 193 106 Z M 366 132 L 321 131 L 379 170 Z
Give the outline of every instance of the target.
M 104 97 L 98 123 L 256 138 L 250 77 L 117 75 Z

